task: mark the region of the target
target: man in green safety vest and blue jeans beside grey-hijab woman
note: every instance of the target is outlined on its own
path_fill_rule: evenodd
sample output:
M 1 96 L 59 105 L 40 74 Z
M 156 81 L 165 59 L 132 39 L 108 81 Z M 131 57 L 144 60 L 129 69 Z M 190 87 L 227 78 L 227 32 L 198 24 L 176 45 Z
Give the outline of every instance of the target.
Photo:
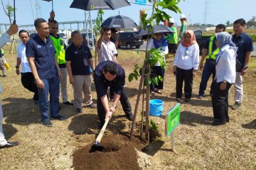
M 225 25 L 218 24 L 215 28 L 215 33 L 220 33 L 225 31 Z M 213 80 L 215 78 L 215 59 L 219 52 L 219 49 L 216 47 L 215 44 L 215 35 L 213 37 L 210 37 L 209 40 L 206 42 L 205 47 L 203 48 L 203 54 L 201 57 L 201 61 L 199 64 L 199 68 L 203 69 L 201 83 L 198 91 L 198 98 L 203 99 L 204 91 L 207 87 L 207 82 L 210 78 L 210 75 L 213 74 Z M 203 67 L 203 60 L 206 59 L 206 64 Z M 212 81 L 212 84 L 210 85 L 210 95 L 213 94 L 214 89 L 214 81 Z

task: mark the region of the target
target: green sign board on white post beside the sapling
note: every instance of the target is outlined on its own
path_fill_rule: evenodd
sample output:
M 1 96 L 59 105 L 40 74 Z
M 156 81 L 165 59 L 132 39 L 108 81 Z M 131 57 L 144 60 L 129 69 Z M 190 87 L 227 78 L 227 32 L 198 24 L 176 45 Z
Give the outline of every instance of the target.
M 174 108 L 171 108 L 166 114 L 165 133 L 170 135 L 172 131 L 178 126 L 181 115 L 181 104 L 177 103 Z

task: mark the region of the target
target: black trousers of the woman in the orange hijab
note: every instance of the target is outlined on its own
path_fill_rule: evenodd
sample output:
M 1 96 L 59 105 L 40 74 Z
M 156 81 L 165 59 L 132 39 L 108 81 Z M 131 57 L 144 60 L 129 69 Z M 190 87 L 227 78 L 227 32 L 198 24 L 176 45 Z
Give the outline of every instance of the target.
M 176 69 L 176 98 L 182 97 L 183 81 L 185 98 L 190 99 L 193 86 L 193 69 Z

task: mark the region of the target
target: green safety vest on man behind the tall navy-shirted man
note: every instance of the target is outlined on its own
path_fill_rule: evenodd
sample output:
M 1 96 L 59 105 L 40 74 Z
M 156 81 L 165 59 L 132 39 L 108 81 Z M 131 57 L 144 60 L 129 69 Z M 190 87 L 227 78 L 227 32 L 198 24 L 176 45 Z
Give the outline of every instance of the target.
M 57 58 L 58 64 L 65 64 L 65 42 L 63 38 L 55 38 L 53 35 L 50 35 L 50 40 L 53 41 L 55 47 L 55 57 Z

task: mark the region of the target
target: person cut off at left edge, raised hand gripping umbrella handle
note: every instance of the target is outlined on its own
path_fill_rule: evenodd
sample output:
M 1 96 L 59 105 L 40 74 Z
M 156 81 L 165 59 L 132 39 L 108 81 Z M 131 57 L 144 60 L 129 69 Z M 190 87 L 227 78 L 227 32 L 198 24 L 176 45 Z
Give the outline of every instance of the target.
M 6 31 L 3 35 L 1 35 L 0 38 L 0 48 L 2 48 L 6 42 L 10 39 L 10 36 L 17 33 L 18 31 L 18 26 L 16 24 L 12 24 L 9 28 L 9 30 Z M 0 84 L 0 92 L 1 92 L 1 84 Z M 4 133 L 3 133 L 3 127 L 2 127 L 2 120 L 3 120 L 3 110 L 1 107 L 1 102 L 0 102 L 0 149 L 4 147 L 14 147 L 18 145 L 18 142 L 7 142 L 6 139 L 4 138 Z

